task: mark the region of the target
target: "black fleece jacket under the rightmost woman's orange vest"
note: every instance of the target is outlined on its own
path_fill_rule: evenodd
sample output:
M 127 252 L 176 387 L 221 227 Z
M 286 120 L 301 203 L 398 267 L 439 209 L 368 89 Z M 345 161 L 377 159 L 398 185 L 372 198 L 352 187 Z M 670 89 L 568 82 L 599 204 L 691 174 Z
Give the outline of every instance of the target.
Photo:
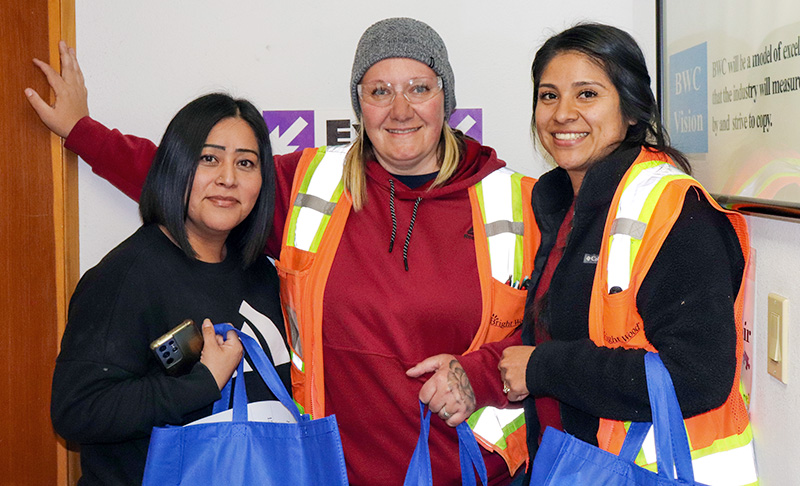
M 599 417 L 649 421 L 644 350 L 610 349 L 589 339 L 588 314 L 596 259 L 611 200 L 639 146 L 621 146 L 586 174 L 575 202 L 573 226 L 555 269 L 543 313 L 552 341 L 536 347 L 528 362 L 525 402 L 531 459 L 538 448 L 539 422 L 533 398 L 552 396 L 561 404 L 564 429 L 597 444 Z M 685 417 L 720 406 L 730 393 L 736 366 L 734 300 L 744 258 L 727 217 L 690 189 L 636 298 L 648 341 L 672 375 Z M 547 260 L 558 228 L 572 204 L 569 177 L 556 168 L 537 182 L 533 209 L 542 232 L 533 275 Z M 533 342 L 529 289 L 523 342 Z

